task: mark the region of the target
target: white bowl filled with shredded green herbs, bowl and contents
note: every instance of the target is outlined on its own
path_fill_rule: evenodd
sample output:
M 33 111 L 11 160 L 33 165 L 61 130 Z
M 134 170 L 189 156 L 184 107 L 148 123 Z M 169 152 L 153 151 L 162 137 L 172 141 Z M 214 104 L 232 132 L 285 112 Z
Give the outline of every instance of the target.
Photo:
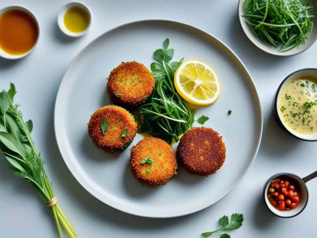
M 240 0 L 239 20 L 249 40 L 277 56 L 307 50 L 317 39 L 317 1 Z

